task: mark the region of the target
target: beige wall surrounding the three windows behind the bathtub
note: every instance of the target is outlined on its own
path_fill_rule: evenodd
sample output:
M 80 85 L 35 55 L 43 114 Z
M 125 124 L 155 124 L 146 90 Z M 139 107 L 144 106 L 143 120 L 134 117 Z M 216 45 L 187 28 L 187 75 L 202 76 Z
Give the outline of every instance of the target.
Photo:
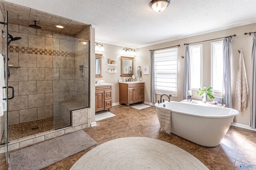
M 236 34 L 237 36 L 232 38 L 232 45 L 231 45 L 231 80 L 232 80 L 232 106 L 236 109 L 236 102 L 234 98 L 235 88 L 236 88 L 236 74 L 238 71 L 238 60 L 239 60 L 239 53 L 238 49 L 243 50 L 244 55 L 244 62 L 246 66 L 246 73 L 248 79 L 248 87 L 249 87 L 249 94 L 247 96 L 247 108 L 245 111 L 240 113 L 240 116 L 236 116 L 234 122 L 241 123 L 244 125 L 249 125 L 250 119 L 250 88 L 251 88 L 251 51 L 252 51 L 252 35 L 244 35 L 245 32 L 252 32 L 256 31 L 256 23 L 250 25 L 244 25 L 240 27 L 234 27 L 230 29 L 225 29 L 222 31 L 216 31 L 212 33 L 206 33 L 202 35 L 197 35 L 193 37 L 188 37 L 184 39 L 178 39 L 175 41 L 170 41 L 166 43 L 161 43 L 157 45 L 151 45 L 148 47 L 142 47 L 136 49 L 137 57 L 136 57 L 136 65 L 143 66 L 143 65 L 150 65 L 150 49 L 158 49 L 163 47 L 170 47 L 173 45 L 180 44 L 178 48 L 178 94 L 177 97 L 173 97 L 172 101 L 181 101 L 183 96 L 183 73 L 184 73 L 184 59 L 181 56 L 185 56 L 185 46 L 184 43 L 192 43 L 196 41 L 202 41 L 207 39 L 214 39 L 218 37 L 225 37 L 228 35 Z M 214 41 L 221 41 L 221 39 L 214 40 Z M 214 41 L 207 41 L 203 42 L 203 84 L 202 86 L 209 87 L 211 85 L 211 42 Z M 198 43 L 200 44 L 200 43 Z M 194 44 L 193 44 L 194 45 Z M 145 101 L 150 102 L 150 75 L 142 75 L 143 80 L 145 81 Z M 201 100 L 199 96 L 196 96 L 196 91 L 192 91 L 193 99 Z M 216 94 L 218 96 L 222 96 L 221 94 Z M 156 96 L 157 99 L 160 98 L 159 95 Z

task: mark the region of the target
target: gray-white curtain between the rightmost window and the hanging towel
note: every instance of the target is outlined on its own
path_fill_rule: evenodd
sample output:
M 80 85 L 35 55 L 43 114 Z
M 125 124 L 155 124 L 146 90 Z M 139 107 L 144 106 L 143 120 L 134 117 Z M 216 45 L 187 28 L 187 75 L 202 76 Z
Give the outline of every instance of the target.
M 223 39 L 223 100 L 226 107 L 232 108 L 232 98 L 231 98 L 231 41 L 232 39 Z

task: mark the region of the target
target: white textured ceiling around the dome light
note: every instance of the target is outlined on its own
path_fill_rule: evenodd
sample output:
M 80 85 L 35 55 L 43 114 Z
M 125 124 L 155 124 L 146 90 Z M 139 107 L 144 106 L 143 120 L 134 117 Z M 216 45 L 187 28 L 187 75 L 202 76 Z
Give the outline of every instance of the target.
M 8 0 L 96 25 L 96 40 L 141 47 L 255 20 L 255 0 L 171 0 L 163 12 L 151 0 Z

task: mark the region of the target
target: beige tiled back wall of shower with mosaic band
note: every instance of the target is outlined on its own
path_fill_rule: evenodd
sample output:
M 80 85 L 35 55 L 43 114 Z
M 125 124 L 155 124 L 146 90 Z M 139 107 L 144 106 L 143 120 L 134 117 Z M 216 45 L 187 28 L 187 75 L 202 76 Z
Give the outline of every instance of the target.
M 52 31 L 8 24 L 13 37 L 9 46 L 9 86 L 15 98 L 9 100 L 8 125 L 53 116 L 54 102 L 74 98 L 74 37 Z

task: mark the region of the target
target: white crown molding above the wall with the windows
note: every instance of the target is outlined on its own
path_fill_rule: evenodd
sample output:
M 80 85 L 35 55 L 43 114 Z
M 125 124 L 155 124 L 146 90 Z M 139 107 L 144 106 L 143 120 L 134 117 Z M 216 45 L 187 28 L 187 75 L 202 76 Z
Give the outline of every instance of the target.
M 236 23 L 236 24 L 233 24 L 233 25 L 228 25 L 228 26 L 225 26 L 225 27 L 219 27 L 219 28 L 215 28 L 215 29 L 210 29 L 208 31 L 202 31 L 202 32 L 198 32 L 198 33 L 194 33 L 194 34 L 190 34 L 190 35 L 184 35 L 184 36 L 180 36 L 180 37 L 174 37 L 174 38 L 170 38 L 170 39 L 165 39 L 165 40 L 162 40 L 162 41 L 157 41 L 157 42 L 154 42 L 154 43 L 150 43 L 150 44 L 147 44 L 147 45 L 143 45 L 143 46 L 137 47 L 136 49 L 139 49 L 139 48 L 142 48 L 142 47 L 148 47 L 150 45 L 156 45 L 156 44 L 166 43 L 166 42 L 170 42 L 170 41 L 175 41 L 175 40 L 178 40 L 178 39 L 193 37 L 193 36 L 196 36 L 196 35 L 202 35 L 202 34 L 206 34 L 206 33 L 212 33 L 212 32 L 216 32 L 216 31 L 221 31 L 221 30 L 224 30 L 224 29 L 230 29 L 230 28 L 239 27 L 239 26 L 243 26 L 243 25 L 249 25 L 249 24 L 252 24 L 252 23 L 256 23 L 256 20 L 240 22 L 240 23 Z

